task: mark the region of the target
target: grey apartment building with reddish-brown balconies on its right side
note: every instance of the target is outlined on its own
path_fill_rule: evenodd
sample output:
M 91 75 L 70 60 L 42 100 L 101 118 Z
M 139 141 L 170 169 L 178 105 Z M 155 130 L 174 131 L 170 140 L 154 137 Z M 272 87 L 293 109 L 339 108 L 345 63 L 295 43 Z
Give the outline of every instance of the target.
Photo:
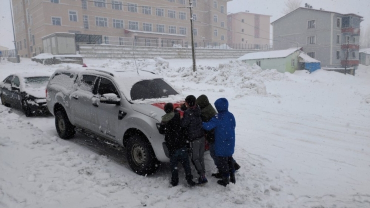
M 321 67 L 357 67 L 362 16 L 300 7 L 273 21 L 273 49 L 302 48 Z

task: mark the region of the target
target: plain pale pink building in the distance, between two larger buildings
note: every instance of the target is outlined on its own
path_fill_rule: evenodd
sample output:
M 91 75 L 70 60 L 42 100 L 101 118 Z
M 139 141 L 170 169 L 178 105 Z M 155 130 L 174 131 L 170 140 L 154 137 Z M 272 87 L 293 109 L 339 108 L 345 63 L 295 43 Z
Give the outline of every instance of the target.
M 247 45 L 258 48 L 270 44 L 269 15 L 249 12 L 230 13 L 227 14 L 227 29 L 229 45 Z

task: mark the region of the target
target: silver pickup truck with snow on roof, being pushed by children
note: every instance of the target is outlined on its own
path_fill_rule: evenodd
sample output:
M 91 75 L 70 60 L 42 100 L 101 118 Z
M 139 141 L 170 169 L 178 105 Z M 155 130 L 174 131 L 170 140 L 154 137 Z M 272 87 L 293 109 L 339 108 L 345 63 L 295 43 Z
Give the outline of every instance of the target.
M 158 127 L 164 104 L 179 100 L 183 95 L 162 77 L 142 70 L 57 69 L 46 86 L 47 108 L 61 138 L 79 130 L 123 146 L 130 167 L 141 175 L 169 161 Z

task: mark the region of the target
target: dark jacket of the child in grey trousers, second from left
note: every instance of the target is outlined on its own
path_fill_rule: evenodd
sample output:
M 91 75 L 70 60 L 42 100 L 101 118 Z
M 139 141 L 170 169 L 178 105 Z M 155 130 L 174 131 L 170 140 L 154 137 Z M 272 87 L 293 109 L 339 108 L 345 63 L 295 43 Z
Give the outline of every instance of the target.
M 181 127 L 187 129 L 189 141 L 196 140 L 204 136 L 201 123 L 201 111 L 199 106 L 194 105 L 185 110 L 181 119 Z

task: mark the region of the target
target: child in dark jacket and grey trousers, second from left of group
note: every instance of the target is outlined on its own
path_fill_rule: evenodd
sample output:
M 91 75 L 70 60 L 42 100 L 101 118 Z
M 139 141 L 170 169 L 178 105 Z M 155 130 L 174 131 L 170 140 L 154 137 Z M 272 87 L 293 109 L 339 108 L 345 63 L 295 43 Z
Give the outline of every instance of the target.
M 181 119 L 181 127 L 187 129 L 187 138 L 190 143 L 191 159 L 195 169 L 199 174 L 198 184 L 202 185 L 208 182 L 205 178 L 204 168 L 204 131 L 201 121 L 201 111 L 195 104 L 195 96 L 188 95 L 185 98 L 187 109 Z

